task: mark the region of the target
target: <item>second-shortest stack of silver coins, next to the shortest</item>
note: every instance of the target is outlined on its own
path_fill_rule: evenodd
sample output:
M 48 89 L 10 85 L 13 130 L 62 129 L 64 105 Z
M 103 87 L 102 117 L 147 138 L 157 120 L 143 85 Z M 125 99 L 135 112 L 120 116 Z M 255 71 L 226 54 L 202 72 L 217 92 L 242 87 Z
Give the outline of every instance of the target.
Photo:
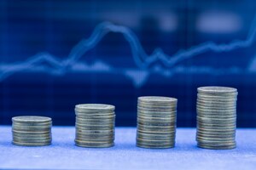
M 75 144 L 81 147 L 104 148 L 114 145 L 113 105 L 81 104 L 75 106 Z

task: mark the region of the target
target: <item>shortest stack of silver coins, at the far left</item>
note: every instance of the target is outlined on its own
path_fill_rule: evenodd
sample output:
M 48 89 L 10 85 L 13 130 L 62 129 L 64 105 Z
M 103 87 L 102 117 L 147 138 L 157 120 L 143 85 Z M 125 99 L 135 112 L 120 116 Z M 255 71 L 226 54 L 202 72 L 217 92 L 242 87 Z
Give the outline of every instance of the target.
M 51 144 L 51 118 L 45 116 L 15 116 L 12 118 L 13 144 L 44 146 Z

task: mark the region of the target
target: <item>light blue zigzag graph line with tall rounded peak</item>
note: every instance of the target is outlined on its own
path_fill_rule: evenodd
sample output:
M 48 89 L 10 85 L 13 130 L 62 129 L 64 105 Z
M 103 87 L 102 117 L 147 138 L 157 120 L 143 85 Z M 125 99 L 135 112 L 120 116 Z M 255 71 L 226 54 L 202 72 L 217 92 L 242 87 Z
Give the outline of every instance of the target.
M 57 57 L 48 53 L 39 53 L 26 59 L 22 62 L 0 65 L 0 81 L 11 76 L 16 72 L 22 71 L 44 71 L 50 74 L 65 74 L 70 71 L 73 65 L 76 65 L 79 59 L 86 54 L 91 48 L 95 48 L 96 45 L 102 41 L 108 33 L 115 32 L 121 33 L 127 42 L 129 42 L 132 52 L 132 57 L 141 71 L 147 71 L 149 65 L 155 62 L 161 62 L 165 65 L 168 71 L 172 71 L 175 65 L 182 62 L 185 59 L 194 58 L 198 54 L 204 54 L 211 52 L 228 52 L 236 48 L 246 48 L 255 42 L 256 38 L 256 15 L 254 17 L 250 31 L 247 34 L 245 40 L 235 40 L 230 43 L 217 44 L 214 42 L 205 42 L 200 45 L 194 46 L 187 50 L 180 50 L 176 54 L 165 54 L 161 48 L 156 48 L 153 54 L 146 54 L 141 42 L 137 39 L 136 34 L 125 26 L 116 26 L 109 22 L 104 22 L 93 31 L 92 35 L 88 39 L 82 39 L 76 46 L 74 46 L 67 56 L 67 59 L 58 59 Z M 44 68 L 43 62 L 52 65 L 51 70 Z M 106 70 L 107 67 L 107 70 Z M 105 65 L 105 70 L 108 71 L 108 66 Z M 113 69 L 114 70 L 114 69 Z M 86 70 L 88 71 L 88 70 Z M 161 71 L 161 69 L 160 69 Z M 147 76 L 148 74 L 145 74 Z M 137 82 L 138 85 L 143 83 L 144 80 Z

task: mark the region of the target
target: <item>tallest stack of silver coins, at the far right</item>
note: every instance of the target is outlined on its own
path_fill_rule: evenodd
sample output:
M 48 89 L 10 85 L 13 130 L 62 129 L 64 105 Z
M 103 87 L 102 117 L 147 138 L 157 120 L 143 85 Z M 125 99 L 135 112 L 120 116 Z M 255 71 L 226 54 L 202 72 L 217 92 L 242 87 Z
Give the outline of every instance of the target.
M 202 87 L 197 91 L 197 145 L 236 148 L 236 88 Z

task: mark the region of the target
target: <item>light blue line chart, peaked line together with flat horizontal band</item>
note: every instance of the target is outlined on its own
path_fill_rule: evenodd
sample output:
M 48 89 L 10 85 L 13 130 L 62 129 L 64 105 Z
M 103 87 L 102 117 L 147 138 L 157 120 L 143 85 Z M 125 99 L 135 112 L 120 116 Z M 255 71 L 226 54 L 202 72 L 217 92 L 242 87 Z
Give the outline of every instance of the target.
M 112 65 L 108 65 L 101 60 L 97 60 L 93 65 L 88 65 L 86 62 L 81 63 L 81 59 L 90 49 L 95 48 L 96 45 L 102 41 L 109 33 L 120 33 L 129 43 L 131 48 L 132 59 L 137 68 L 117 69 Z M 131 78 L 135 87 L 141 87 L 148 79 L 151 73 L 158 73 L 162 76 L 171 77 L 175 73 L 183 72 L 184 68 L 177 66 L 178 63 L 186 59 L 192 59 L 199 54 L 207 52 L 230 52 L 237 48 L 250 47 L 253 42 L 256 42 L 256 15 L 253 19 L 250 31 L 245 40 L 234 40 L 230 43 L 215 43 L 204 42 L 193 46 L 189 49 L 181 49 L 176 54 L 165 54 L 161 48 L 155 48 L 152 54 L 147 54 L 138 40 L 137 35 L 128 27 L 117 26 L 110 22 L 103 22 L 96 26 L 91 36 L 87 39 L 82 39 L 75 45 L 66 59 L 59 59 L 49 53 L 38 53 L 25 61 L 16 63 L 1 63 L 0 64 L 0 81 L 4 81 L 7 77 L 19 72 L 46 72 L 53 76 L 61 76 L 67 72 L 119 72 L 125 77 Z M 253 58 L 252 65 L 248 65 L 247 71 L 256 71 L 256 57 Z M 154 65 L 161 63 L 163 66 Z M 46 66 L 47 64 L 48 66 Z M 154 65 L 150 67 L 149 65 Z M 237 74 L 242 70 L 239 68 L 214 69 L 210 67 L 186 67 L 186 71 L 191 73 L 205 73 L 205 74 L 222 74 L 232 73 Z

